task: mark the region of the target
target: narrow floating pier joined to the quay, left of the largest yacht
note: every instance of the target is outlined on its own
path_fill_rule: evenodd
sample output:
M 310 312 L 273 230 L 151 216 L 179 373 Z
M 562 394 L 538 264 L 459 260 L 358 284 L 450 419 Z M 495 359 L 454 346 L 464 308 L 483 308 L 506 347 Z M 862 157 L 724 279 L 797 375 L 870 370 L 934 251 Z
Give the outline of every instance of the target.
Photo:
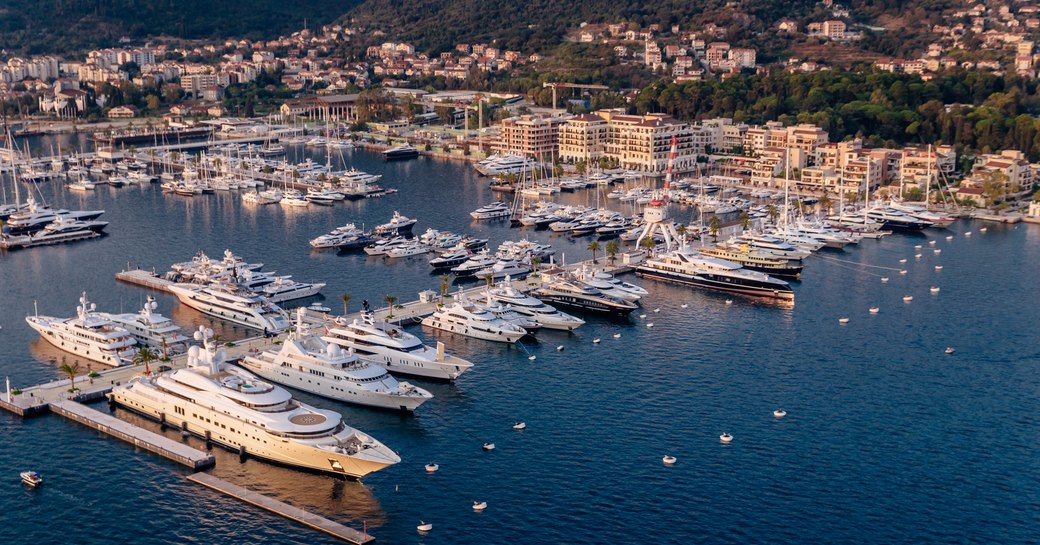
M 116 439 L 122 439 L 149 452 L 188 466 L 196 471 L 210 467 L 215 463 L 213 455 L 174 441 L 166 436 L 137 427 L 114 416 L 107 415 L 101 411 L 95 411 L 85 405 L 71 399 L 52 401 L 50 408 L 51 412 L 55 414 L 75 420 Z

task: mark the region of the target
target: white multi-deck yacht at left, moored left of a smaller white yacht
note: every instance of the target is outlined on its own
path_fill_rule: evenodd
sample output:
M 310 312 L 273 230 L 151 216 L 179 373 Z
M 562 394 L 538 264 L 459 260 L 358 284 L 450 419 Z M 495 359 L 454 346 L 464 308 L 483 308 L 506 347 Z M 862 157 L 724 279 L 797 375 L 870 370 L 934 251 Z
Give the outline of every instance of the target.
M 25 321 L 58 348 L 112 367 L 128 365 L 137 346 L 129 331 L 95 312 L 95 305 L 87 301 L 86 292 L 79 297 L 75 317 L 33 315 L 26 316 Z

